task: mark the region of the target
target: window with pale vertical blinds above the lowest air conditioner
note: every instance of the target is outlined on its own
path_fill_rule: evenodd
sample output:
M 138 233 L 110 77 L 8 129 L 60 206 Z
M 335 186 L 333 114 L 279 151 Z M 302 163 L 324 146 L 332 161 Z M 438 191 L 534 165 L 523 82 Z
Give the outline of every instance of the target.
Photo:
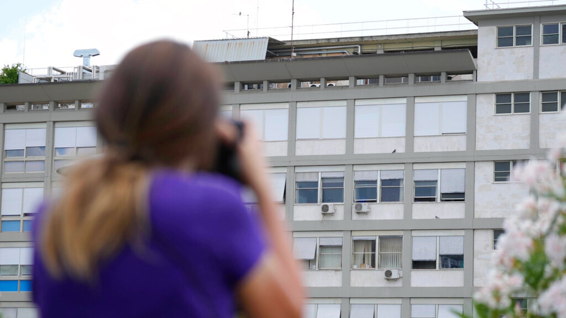
M 376 244 L 379 242 L 379 244 Z M 352 237 L 352 269 L 402 268 L 402 235 Z M 376 259 L 377 255 L 377 259 Z

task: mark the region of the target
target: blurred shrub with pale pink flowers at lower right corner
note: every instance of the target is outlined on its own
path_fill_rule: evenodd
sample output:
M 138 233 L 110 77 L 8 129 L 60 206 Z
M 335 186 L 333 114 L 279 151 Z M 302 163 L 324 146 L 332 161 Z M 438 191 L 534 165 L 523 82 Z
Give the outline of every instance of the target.
M 566 135 L 559 143 L 566 146 Z M 531 160 L 515 175 L 530 196 L 503 223 L 488 285 L 474 295 L 474 316 L 566 318 L 566 164 L 561 149 L 547 159 Z M 516 298 L 533 299 L 528 313 Z

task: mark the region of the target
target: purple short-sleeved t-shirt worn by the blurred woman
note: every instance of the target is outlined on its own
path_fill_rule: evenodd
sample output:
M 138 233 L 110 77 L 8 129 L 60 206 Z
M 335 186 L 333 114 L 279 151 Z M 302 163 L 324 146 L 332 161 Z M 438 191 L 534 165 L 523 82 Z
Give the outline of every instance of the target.
M 239 191 L 218 174 L 156 173 L 145 249 L 124 247 L 101 266 L 95 284 L 50 277 L 35 251 L 33 299 L 41 317 L 233 317 L 234 287 L 264 250 L 259 222 Z

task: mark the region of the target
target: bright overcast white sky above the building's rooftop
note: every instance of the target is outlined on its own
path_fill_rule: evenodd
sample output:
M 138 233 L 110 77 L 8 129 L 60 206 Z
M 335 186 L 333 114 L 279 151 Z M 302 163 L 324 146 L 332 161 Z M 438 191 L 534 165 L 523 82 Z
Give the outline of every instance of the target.
M 247 29 L 248 18 L 251 36 L 256 36 L 256 28 L 290 26 L 291 2 L 0 0 L 0 65 L 24 62 L 28 68 L 77 66 L 82 60 L 73 57 L 73 51 L 91 48 L 100 50 L 100 55 L 92 58 L 93 65 L 115 64 L 143 42 L 165 37 L 190 44 L 194 40 L 224 38 L 223 30 Z M 294 25 L 453 16 L 464 10 L 480 10 L 484 3 L 485 0 L 295 0 Z M 360 25 L 342 26 L 348 27 Z M 366 29 L 370 27 L 371 24 L 365 24 Z M 331 28 L 336 27 L 328 26 Z M 274 30 L 286 33 L 285 29 Z

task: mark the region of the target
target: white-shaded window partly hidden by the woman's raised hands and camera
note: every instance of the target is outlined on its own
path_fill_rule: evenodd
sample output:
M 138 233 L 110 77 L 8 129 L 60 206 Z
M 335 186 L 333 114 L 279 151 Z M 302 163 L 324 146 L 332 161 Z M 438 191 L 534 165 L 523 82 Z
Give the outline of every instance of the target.
M 243 109 L 240 117 L 255 124 L 260 140 L 287 140 L 289 109 Z

